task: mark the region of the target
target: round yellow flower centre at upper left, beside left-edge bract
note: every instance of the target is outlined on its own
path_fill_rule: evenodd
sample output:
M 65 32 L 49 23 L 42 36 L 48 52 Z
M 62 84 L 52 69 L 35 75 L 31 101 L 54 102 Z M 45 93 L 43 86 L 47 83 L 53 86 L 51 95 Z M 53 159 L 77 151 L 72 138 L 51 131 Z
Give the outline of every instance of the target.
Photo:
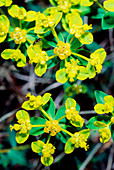
M 25 29 L 21 30 L 21 28 L 16 27 L 14 32 L 12 32 L 10 36 L 16 44 L 21 44 L 26 42 L 26 34 L 27 31 Z

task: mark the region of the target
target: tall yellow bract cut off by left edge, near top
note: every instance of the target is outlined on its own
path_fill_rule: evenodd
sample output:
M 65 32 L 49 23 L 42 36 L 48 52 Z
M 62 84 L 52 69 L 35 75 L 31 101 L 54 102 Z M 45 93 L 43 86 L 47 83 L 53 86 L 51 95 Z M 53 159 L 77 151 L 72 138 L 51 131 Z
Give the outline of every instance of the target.
M 0 43 L 3 42 L 9 31 L 10 22 L 5 15 L 0 15 Z

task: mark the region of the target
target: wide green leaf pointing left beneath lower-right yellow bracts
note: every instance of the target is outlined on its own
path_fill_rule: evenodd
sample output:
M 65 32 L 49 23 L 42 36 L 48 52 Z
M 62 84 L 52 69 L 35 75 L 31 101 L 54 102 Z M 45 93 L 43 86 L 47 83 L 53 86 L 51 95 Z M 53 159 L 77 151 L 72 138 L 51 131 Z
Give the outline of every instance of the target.
M 95 117 L 92 117 L 86 124 L 86 127 L 89 128 L 89 129 L 94 129 L 94 130 L 99 130 L 99 129 L 102 129 L 104 128 L 103 126 L 98 126 L 98 124 L 94 124 L 94 122 L 96 121 L 100 121 L 101 124 L 102 123 L 105 123 L 106 125 L 108 125 L 108 123 L 110 122 L 110 117 L 109 116 L 105 116 L 105 115 L 99 115 L 99 116 L 95 116 Z M 97 125 L 97 126 L 95 126 Z

